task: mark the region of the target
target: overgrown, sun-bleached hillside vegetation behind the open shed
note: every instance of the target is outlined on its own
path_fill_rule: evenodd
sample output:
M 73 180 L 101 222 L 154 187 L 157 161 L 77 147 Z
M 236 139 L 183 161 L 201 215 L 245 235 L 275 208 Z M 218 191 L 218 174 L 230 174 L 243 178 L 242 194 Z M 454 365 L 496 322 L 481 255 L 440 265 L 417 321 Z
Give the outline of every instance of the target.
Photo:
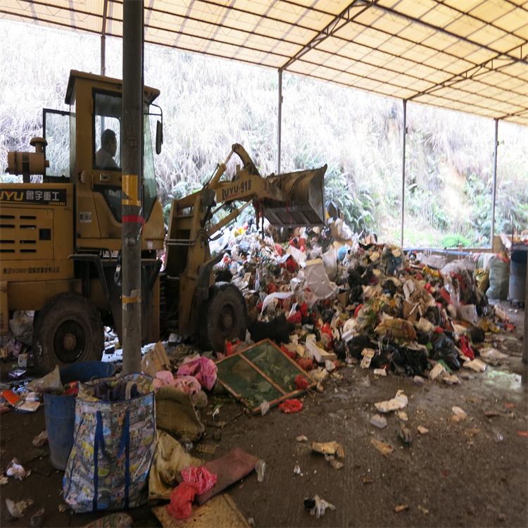
M 0 28 L 4 168 L 8 151 L 32 150 L 30 139 L 42 135 L 42 108 L 68 110 L 70 70 L 99 73 L 100 40 L 6 21 Z M 122 77 L 122 42 L 107 39 L 106 54 L 107 75 Z M 276 71 L 146 46 L 145 84 L 161 90 L 165 142 L 156 170 L 166 213 L 172 198 L 201 187 L 235 142 L 261 174 L 277 171 Z M 327 200 L 348 225 L 399 243 L 401 101 L 288 73 L 283 96 L 282 172 L 327 163 Z M 404 246 L 489 244 L 494 122 L 413 103 L 407 116 Z M 496 234 L 528 226 L 528 129 L 499 122 L 498 137 Z

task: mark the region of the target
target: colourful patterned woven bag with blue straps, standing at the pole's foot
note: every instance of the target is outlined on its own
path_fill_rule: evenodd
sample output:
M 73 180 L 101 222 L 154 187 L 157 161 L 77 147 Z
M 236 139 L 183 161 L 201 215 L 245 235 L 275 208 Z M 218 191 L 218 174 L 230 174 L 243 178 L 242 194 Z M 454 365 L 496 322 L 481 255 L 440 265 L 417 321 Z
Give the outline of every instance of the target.
M 96 384 L 122 380 L 127 388 L 135 384 L 139 396 L 115 402 L 94 397 Z M 146 503 L 155 436 L 150 376 L 130 374 L 80 384 L 74 444 L 63 479 L 66 503 L 77 513 L 122 510 Z

